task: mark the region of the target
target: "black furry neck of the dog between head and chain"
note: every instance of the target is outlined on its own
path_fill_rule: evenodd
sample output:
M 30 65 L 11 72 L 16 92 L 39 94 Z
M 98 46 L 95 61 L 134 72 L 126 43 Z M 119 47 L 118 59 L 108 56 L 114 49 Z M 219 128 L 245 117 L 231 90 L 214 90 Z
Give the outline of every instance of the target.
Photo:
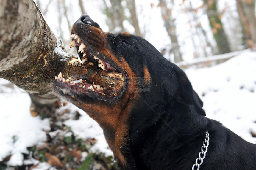
M 188 155 L 198 157 L 198 150 L 207 130 L 207 118 L 199 116 L 192 106 L 184 107 L 178 102 L 169 104 L 175 106 L 157 104 L 155 107 L 142 107 L 143 110 L 134 112 L 129 134 L 137 169 L 147 169 L 146 166 L 157 169 L 170 163 L 170 160 L 173 167 L 190 167 L 194 160 L 191 163 L 186 162 Z M 154 110 L 162 112 L 156 113 Z

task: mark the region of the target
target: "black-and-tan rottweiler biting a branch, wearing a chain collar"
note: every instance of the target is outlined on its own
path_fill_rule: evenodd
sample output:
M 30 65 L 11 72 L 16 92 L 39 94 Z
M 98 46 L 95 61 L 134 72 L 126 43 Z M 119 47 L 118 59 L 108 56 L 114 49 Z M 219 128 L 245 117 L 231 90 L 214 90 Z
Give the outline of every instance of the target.
M 63 75 L 84 80 L 59 75 L 54 91 L 99 123 L 120 169 L 256 169 L 256 145 L 206 118 L 185 73 L 145 39 L 104 33 L 88 15 L 71 38 L 83 64 Z

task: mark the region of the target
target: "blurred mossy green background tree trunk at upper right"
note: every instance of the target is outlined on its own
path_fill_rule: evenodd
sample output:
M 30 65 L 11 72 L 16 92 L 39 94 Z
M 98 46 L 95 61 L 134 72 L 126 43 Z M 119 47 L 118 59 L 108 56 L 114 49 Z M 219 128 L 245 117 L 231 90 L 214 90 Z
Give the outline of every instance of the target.
M 217 42 L 219 53 L 229 53 L 230 48 L 227 36 L 221 23 L 221 15 L 219 15 L 217 11 L 217 0 L 204 0 L 204 4 L 207 6 L 207 16 L 213 31 L 214 39 Z

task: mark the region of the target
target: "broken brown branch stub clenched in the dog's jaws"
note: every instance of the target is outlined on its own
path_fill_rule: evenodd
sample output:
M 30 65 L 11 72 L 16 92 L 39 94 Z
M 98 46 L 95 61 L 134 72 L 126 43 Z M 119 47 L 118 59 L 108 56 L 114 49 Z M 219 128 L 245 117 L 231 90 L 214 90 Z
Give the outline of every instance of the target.
M 73 79 L 95 82 L 112 91 L 120 90 L 124 85 L 124 75 L 118 72 L 95 69 L 79 62 L 72 63 L 67 70 L 68 76 Z

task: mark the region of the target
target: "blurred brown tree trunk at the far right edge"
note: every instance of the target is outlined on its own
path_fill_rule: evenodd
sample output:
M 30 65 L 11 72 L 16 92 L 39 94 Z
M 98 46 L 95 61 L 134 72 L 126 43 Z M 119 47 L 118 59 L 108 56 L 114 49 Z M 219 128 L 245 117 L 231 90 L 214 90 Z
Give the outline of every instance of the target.
M 249 47 L 256 43 L 255 0 L 236 0 L 240 22 L 243 28 L 243 39 Z

